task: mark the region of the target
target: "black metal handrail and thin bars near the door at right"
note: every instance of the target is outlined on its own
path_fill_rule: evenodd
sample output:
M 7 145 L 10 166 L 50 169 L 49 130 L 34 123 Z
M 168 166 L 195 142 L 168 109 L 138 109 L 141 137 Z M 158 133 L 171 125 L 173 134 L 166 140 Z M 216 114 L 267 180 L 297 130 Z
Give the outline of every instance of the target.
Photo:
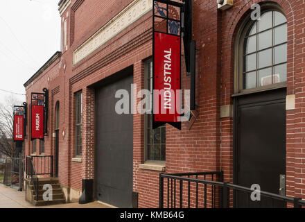
M 248 187 L 242 187 L 240 185 L 234 185 L 230 184 L 229 182 L 223 182 L 223 181 L 211 181 L 211 180 L 202 180 L 198 179 L 198 176 L 200 175 L 216 175 L 220 176 L 220 180 L 223 180 L 223 171 L 215 171 L 215 172 L 202 172 L 202 173 L 172 173 L 172 174 L 165 174 L 160 173 L 159 174 L 159 207 L 164 207 L 164 178 L 167 179 L 167 198 L 168 202 L 171 202 L 171 205 L 173 206 L 173 198 L 174 198 L 174 205 L 176 202 L 176 181 L 180 182 L 180 207 L 182 207 L 183 202 L 183 182 L 188 182 L 189 184 L 189 193 L 188 193 L 188 200 L 190 205 L 190 184 L 191 182 L 195 183 L 196 185 L 196 207 L 198 207 L 198 184 L 204 185 L 204 193 L 207 191 L 207 185 L 211 185 L 211 189 L 216 192 L 216 187 L 219 189 L 219 207 L 227 208 L 229 207 L 229 190 L 232 189 L 233 191 L 244 191 L 249 194 L 252 194 L 254 191 L 253 189 L 250 189 Z M 184 176 L 188 176 L 187 178 Z M 189 178 L 190 176 L 196 176 L 197 178 Z M 174 187 L 173 187 L 174 182 Z M 177 183 L 179 183 L 177 182 Z M 170 189 L 171 187 L 171 189 Z M 174 192 L 173 192 L 174 189 Z M 171 194 L 170 194 L 171 191 Z M 304 206 L 305 207 L 305 200 L 302 200 L 302 198 L 293 198 L 288 196 L 281 196 L 279 194 L 272 194 L 270 192 L 266 191 L 259 191 L 261 196 L 265 196 L 268 198 L 271 198 L 272 200 L 281 200 L 285 203 L 291 203 L 295 208 L 299 208 Z M 205 195 L 205 194 L 204 194 Z M 216 200 L 216 194 L 212 194 L 214 196 L 211 196 L 211 199 L 214 199 L 214 202 Z M 174 197 L 173 197 L 174 196 Z M 169 198 L 171 197 L 171 199 Z M 207 207 L 207 197 L 204 196 L 204 206 Z M 169 203 L 168 203 L 169 207 Z M 213 205 L 212 207 L 216 207 L 216 205 Z

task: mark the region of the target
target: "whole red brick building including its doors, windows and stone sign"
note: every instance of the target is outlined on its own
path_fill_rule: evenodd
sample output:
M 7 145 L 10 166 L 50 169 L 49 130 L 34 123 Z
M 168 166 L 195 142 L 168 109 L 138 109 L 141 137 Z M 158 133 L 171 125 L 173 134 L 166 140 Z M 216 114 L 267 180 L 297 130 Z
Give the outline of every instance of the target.
M 261 20 L 251 19 L 254 3 Z M 24 85 L 28 105 L 49 89 L 44 144 L 26 139 L 26 155 L 53 155 L 67 201 L 78 201 L 85 180 L 96 200 L 132 207 L 135 192 L 139 207 L 159 207 L 159 173 L 200 171 L 273 193 L 285 175 L 286 195 L 304 198 L 305 3 L 235 0 L 220 10 L 216 0 L 193 1 L 199 116 L 181 131 L 114 112 L 116 89 L 150 86 L 152 7 L 60 1 L 62 51 Z M 189 78 L 182 62 L 182 88 Z

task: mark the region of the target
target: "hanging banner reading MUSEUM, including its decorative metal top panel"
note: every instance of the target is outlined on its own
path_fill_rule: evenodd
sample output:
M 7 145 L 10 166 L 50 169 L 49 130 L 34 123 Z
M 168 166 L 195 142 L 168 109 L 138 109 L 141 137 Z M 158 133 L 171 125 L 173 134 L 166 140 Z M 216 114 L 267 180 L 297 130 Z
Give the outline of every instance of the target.
M 32 94 L 31 139 L 44 139 L 44 94 Z

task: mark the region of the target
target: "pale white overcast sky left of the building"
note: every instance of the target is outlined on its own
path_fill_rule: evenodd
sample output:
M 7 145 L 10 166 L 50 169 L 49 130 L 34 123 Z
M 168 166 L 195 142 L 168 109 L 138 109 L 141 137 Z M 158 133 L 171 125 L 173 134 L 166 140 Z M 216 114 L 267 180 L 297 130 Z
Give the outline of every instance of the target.
M 25 94 L 26 80 L 60 51 L 58 2 L 0 0 L 0 89 Z M 0 90 L 0 103 L 10 95 Z

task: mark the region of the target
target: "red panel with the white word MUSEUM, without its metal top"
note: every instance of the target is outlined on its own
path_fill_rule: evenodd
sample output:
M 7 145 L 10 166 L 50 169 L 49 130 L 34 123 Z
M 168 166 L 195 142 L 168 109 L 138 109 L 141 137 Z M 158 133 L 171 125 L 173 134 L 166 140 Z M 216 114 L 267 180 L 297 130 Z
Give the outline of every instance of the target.
M 44 138 L 44 106 L 32 105 L 32 139 Z

